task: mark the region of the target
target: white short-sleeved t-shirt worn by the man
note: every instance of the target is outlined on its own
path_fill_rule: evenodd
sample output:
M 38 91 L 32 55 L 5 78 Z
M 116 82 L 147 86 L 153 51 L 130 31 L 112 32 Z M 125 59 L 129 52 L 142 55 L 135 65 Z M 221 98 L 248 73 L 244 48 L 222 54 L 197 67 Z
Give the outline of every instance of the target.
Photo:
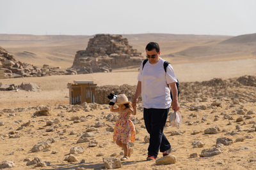
M 170 108 L 172 99 L 170 97 L 170 89 L 167 83 L 177 82 L 171 64 L 164 71 L 164 60 L 160 60 L 156 64 L 146 62 L 143 67 L 141 62 L 138 81 L 141 81 L 141 97 L 143 108 Z

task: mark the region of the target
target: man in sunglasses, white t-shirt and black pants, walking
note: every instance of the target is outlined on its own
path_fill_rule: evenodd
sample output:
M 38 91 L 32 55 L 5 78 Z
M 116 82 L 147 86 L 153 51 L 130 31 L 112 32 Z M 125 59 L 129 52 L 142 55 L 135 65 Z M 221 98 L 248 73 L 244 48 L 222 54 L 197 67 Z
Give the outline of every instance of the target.
M 144 67 L 141 63 L 132 106 L 136 106 L 138 97 L 141 94 L 143 118 L 146 129 L 150 134 L 147 160 L 155 160 L 159 149 L 160 152 L 163 152 L 163 156 L 170 153 L 171 145 L 166 136 L 164 136 L 163 129 L 171 104 L 172 109 L 175 111 L 180 109 L 180 105 L 177 97 L 177 79 L 170 64 L 165 73 L 164 60 L 159 57 L 159 45 L 155 42 L 150 42 L 145 50 L 148 61 Z M 170 97 L 170 89 L 172 90 L 173 101 Z

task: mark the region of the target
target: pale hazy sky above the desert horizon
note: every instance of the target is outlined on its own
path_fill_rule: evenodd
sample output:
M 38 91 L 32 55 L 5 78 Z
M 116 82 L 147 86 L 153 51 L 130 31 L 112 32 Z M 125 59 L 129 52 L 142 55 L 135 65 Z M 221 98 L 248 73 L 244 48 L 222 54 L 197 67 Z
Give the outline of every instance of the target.
M 256 33 L 256 0 L 0 0 L 0 34 Z

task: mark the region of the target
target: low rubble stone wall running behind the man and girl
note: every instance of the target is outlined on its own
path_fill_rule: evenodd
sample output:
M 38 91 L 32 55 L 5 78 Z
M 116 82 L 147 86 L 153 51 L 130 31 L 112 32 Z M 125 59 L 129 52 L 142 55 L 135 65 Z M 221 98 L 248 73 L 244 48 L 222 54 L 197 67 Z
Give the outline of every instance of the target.
M 256 102 L 256 76 L 240 76 L 239 78 L 230 78 L 222 80 L 221 78 L 214 78 L 209 81 L 202 82 L 180 82 L 179 83 L 179 100 L 186 102 L 198 102 L 202 97 L 232 97 L 236 99 L 238 97 L 243 98 L 248 102 Z M 252 89 L 254 92 L 246 92 L 244 90 L 233 90 L 232 88 Z M 125 94 L 129 101 L 132 101 L 136 92 L 136 85 L 104 85 L 95 89 L 95 102 L 99 104 L 108 104 L 109 93 L 113 94 Z M 250 95 L 248 95 L 250 94 Z M 139 97 L 138 101 L 141 101 Z

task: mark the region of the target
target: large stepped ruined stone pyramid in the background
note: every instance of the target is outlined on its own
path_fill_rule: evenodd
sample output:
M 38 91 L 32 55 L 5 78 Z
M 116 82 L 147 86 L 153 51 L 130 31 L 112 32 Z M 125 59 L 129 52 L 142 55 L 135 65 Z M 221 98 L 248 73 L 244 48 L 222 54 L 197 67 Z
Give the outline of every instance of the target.
M 77 74 L 111 72 L 113 68 L 140 65 L 143 57 L 121 35 L 97 34 L 86 50 L 79 50 L 70 70 Z

